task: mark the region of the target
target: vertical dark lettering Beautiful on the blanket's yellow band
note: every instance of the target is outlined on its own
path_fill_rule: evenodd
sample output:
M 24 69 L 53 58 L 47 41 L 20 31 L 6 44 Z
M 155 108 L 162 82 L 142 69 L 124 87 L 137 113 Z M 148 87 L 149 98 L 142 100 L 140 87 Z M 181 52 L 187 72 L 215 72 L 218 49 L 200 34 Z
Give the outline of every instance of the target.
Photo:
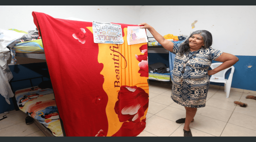
M 114 86 L 115 87 L 120 87 L 120 81 L 118 81 L 120 79 L 120 76 L 119 76 L 119 55 L 123 57 L 124 61 L 125 61 L 125 68 L 127 67 L 127 62 L 126 62 L 126 59 L 124 58 L 124 56 L 119 53 L 119 46 L 120 45 L 116 45 L 116 46 L 110 46 L 110 50 L 113 51 L 113 60 L 114 60 L 114 65 L 115 65 L 115 72 L 116 72 L 116 79 L 117 81 L 114 82 Z M 111 49 L 112 48 L 112 49 Z M 114 49 L 116 48 L 116 50 Z M 115 54 L 114 54 L 115 53 Z M 118 54 L 118 55 L 117 55 Z M 112 54 L 110 54 L 112 55 Z M 121 67 L 122 68 L 122 67 Z M 125 68 L 122 68 L 122 69 L 125 69 Z

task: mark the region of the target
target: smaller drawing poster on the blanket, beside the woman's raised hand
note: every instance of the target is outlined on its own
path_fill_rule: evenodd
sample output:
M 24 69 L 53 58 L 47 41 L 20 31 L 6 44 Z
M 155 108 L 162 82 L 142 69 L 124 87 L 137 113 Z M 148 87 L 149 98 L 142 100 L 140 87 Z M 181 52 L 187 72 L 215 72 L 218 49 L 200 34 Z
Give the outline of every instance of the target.
M 145 29 L 139 26 L 127 26 L 127 42 L 128 45 L 148 42 Z

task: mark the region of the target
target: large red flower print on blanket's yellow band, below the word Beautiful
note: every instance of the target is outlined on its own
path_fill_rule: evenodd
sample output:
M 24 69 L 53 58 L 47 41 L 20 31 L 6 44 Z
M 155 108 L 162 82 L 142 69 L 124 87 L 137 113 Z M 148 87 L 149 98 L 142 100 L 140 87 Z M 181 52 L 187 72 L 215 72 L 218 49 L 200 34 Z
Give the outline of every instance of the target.
M 140 122 L 148 107 L 148 94 L 137 86 L 121 86 L 118 92 L 118 101 L 115 104 L 115 112 L 120 122 Z

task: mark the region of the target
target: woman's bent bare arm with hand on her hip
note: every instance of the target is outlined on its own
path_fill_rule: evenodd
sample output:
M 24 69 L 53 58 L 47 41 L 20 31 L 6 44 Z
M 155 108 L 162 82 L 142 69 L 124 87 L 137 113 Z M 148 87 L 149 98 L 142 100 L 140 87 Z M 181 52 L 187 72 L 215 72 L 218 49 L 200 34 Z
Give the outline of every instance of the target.
M 237 56 L 223 52 L 217 59 L 215 59 L 215 61 L 223 63 L 215 69 L 208 70 L 209 76 L 214 75 L 226 68 L 229 68 L 230 66 L 235 65 L 236 62 L 239 61 L 239 59 Z

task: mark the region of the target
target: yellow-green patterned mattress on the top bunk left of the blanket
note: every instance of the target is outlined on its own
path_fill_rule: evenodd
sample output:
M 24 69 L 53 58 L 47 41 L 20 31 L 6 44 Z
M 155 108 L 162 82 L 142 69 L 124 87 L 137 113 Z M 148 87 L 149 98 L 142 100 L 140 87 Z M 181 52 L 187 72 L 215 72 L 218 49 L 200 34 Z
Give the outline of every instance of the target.
M 42 39 L 17 43 L 14 50 L 16 53 L 44 53 Z

